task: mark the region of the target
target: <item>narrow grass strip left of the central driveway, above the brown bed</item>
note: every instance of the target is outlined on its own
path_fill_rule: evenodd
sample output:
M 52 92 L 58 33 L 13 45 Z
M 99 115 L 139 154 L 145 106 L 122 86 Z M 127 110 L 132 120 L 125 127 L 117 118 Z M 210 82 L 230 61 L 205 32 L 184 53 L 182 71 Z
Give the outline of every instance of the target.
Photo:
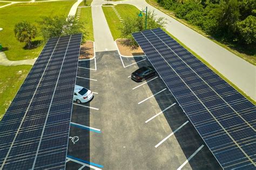
M 85 40 L 93 40 L 92 9 L 91 7 L 81 8 L 79 21 L 85 23 Z

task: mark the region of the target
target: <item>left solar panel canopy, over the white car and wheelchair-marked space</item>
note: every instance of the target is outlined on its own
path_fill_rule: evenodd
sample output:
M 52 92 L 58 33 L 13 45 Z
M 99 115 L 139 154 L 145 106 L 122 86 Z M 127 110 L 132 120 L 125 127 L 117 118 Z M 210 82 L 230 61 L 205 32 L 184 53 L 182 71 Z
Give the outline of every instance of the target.
M 0 169 L 64 169 L 82 35 L 49 39 L 0 122 Z

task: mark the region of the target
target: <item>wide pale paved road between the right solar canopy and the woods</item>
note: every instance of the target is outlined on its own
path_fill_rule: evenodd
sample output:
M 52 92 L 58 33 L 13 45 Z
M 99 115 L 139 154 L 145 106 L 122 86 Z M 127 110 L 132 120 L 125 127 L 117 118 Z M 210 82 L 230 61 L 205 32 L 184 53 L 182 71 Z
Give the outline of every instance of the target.
M 94 2 L 97 2 L 98 5 L 104 3 L 100 0 L 94 0 Z M 147 6 L 148 10 L 154 10 L 157 16 L 165 17 L 167 21 L 167 31 L 178 38 L 191 50 L 196 52 L 200 57 L 205 59 L 248 96 L 256 100 L 256 66 L 246 62 L 244 59 L 234 55 L 232 52 L 224 49 L 218 44 L 215 44 L 210 39 L 200 35 L 196 31 L 193 31 L 186 25 L 181 24 L 158 9 L 153 8 L 153 6 L 147 4 L 145 0 L 128 0 L 125 2 L 109 3 L 128 3 L 137 6 L 138 9 L 143 9 Z M 95 32 L 95 34 L 96 33 L 97 32 Z

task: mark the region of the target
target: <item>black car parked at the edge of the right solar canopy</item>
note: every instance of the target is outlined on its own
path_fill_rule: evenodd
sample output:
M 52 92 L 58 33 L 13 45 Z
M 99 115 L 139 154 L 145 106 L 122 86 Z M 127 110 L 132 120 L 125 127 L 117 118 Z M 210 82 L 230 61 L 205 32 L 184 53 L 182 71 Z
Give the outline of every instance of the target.
M 146 79 L 154 76 L 156 70 L 151 66 L 140 67 L 138 70 L 134 71 L 131 75 L 131 79 L 134 81 L 145 81 Z

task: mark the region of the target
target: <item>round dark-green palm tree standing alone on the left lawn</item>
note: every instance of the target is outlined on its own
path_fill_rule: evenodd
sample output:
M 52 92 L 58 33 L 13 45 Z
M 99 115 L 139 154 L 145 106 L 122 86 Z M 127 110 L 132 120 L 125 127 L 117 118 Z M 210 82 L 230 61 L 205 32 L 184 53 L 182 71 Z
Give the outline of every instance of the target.
M 36 38 L 37 29 L 36 26 L 31 25 L 29 22 L 22 21 L 15 25 L 14 33 L 19 42 L 24 42 L 30 47 L 32 38 Z

